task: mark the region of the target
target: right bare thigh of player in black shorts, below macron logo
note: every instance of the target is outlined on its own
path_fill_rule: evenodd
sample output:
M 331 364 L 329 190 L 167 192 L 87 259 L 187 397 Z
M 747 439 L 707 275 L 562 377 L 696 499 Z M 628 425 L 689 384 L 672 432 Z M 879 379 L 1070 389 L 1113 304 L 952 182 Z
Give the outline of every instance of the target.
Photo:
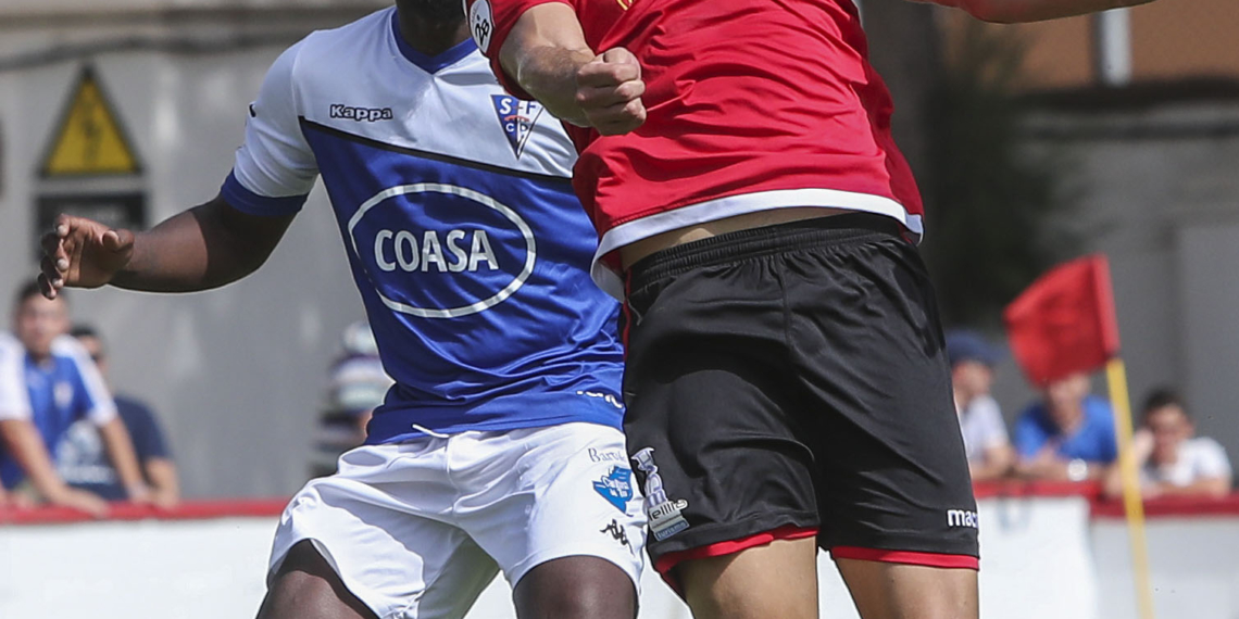
M 836 558 L 862 619 L 976 619 L 976 571 Z

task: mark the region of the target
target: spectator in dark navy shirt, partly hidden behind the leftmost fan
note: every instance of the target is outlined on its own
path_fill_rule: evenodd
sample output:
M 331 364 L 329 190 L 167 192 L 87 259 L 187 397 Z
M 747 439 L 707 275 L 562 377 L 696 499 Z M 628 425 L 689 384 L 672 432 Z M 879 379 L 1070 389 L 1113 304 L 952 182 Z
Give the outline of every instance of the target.
M 99 368 L 99 374 L 110 387 L 108 357 L 103 338 L 87 326 L 74 327 L 71 334 Z M 116 412 L 134 443 L 134 452 L 141 468 L 142 480 L 151 490 L 151 503 L 172 508 L 181 500 L 181 485 L 176 464 L 172 462 L 164 432 L 155 413 L 144 402 L 124 395 L 114 395 Z M 78 421 L 56 447 L 56 464 L 61 477 L 69 485 L 89 490 L 108 500 L 124 500 L 125 488 L 120 475 L 108 461 L 103 437 L 93 423 Z

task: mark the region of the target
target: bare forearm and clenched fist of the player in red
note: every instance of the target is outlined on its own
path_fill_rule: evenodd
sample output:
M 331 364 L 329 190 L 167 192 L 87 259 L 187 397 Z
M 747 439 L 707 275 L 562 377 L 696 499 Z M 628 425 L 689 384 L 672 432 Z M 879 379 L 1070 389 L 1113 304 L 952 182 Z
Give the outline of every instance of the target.
M 499 63 L 551 114 L 574 125 L 620 135 L 646 121 L 641 63 L 622 47 L 595 54 L 567 5 L 525 11 L 499 48 Z

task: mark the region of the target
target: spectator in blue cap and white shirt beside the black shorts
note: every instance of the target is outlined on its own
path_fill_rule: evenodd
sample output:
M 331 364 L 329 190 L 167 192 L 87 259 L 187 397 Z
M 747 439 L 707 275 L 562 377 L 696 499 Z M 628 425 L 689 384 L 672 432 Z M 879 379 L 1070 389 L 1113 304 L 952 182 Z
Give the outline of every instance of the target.
M 1015 464 L 1015 451 L 1002 422 L 1002 410 L 990 395 L 999 352 L 975 332 L 955 331 L 947 334 L 947 357 L 973 480 L 1004 477 Z

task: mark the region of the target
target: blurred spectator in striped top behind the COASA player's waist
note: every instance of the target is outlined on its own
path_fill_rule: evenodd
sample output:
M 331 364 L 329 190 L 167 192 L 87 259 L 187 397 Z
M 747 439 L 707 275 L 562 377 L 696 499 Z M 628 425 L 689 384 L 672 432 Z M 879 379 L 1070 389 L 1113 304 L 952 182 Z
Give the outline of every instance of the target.
M 394 384 L 383 370 L 379 347 L 366 321 L 344 329 L 344 354 L 332 364 L 327 406 L 318 417 L 311 477 L 336 472 L 336 461 L 366 442 L 366 425 Z

